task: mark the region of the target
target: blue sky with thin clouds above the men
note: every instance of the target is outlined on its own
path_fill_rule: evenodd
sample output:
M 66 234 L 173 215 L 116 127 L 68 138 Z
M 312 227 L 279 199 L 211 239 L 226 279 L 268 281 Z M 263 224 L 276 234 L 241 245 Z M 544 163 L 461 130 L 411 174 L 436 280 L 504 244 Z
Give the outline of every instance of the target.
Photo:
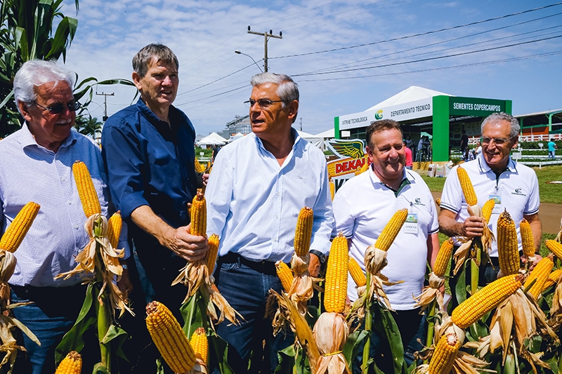
M 249 79 L 263 65 L 293 76 L 301 105 L 295 127 L 333 128 L 334 116 L 361 112 L 421 86 L 451 95 L 513 100 L 514 114 L 562 108 L 562 4 L 554 1 L 199 1 L 84 0 L 63 13 L 79 20 L 66 65 L 79 79 L 131 78 L 146 44 L 166 44 L 180 61 L 174 105 L 198 134 L 247 114 Z M 544 7 L 544 8 L 543 8 Z M 535 8 L 542 8 L 533 10 Z M 521 14 L 516 14 L 521 13 Z M 131 103 L 133 88 L 103 86 L 107 112 Z M 103 96 L 91 105 L 103 116 Z

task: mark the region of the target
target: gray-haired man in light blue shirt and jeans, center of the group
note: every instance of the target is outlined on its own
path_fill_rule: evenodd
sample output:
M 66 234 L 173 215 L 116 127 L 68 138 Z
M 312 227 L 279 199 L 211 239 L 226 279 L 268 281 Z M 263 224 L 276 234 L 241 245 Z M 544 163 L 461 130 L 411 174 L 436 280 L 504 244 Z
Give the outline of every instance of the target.
M 244 320 L 221 323 L 216 331 L 229 345 L 228 363 L 236 373 L 252 370 L 261 354 L 263 373 L 277 366 L 277 351 L 292 344 L 284 334 L 272 336 L 263 319 L 268 292 L 280 292 L 275 262 L 289 262 L 299 211 L 313 208 L 309 271 L 318 274 L 329 251 L 332 201 L 326 161 L 320 149 L 292 128 L 299 109 L 299 90 L 287 75 L 262 73 L 251 79 L 248 101 L 252 133 L 221 149 L 205 196 L 207 234 L 221 239 L 216 286 Z M 265 352 L 262 342 L 266 340 Z

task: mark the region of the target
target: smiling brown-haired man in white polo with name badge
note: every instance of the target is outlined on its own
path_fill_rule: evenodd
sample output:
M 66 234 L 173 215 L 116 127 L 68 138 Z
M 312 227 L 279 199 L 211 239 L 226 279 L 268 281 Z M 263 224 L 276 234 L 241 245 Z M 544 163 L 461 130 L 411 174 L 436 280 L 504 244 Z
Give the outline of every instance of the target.
M 389 281 L 403 281 L 385 288 L 388 300 L 396 313 L 394 319 L 398 324 L 404 347 L 417 343 L 414 336 L 423 336 L 425 329 L 419 308 L 412 295 L 419 295 L 424 286 L 426 263 L 431 266 L 439 249 L 438 221 L 435 203 L 429 188 L 417 173 L 407 170 L 405 152 L 400 124 L 392 120 L 373 122 L 366 133 L 367 154 L 372 165 L 367 173 L 362 173 L 339 189 L 334 197 L 334 218 L 337 232 L 343 232 L 348 238 L 349 255 L 365 271 L 365 249 L 377 241 L 377 238 L 392 215 L 401 208 L 407 208 L 409 216 L 414 218 L 409 229 L 400 233 L 388 249 L 388 265 L 383 274 Z M 413 222 L 415 221 L 415 222 Z M 348 282 L 348 297 L 357 299 L 355 283 Z M 384 373 L 393 372 L 392 356 L 386 338 L 377 342 L 374 361 Z M 412 345 L 410 345 L 411 347 Z M 411 351 L 421 348 L 412 347 Z M 411 362 L 405 349 L 405 359 Z

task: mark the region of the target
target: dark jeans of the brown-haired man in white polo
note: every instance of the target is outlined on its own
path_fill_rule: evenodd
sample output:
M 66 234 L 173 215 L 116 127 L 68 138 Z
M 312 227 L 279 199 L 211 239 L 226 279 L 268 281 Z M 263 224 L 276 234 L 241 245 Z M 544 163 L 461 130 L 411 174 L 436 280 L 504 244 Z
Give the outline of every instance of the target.
M 414 362 L 414 352 L 421 351 L 423 348 L 417 340 L 425 342 L 426 338 L 426 319 L 424 315 L 419 314 L 419 309 L 397 310 L 392 313 L 398 330 L 400 330 L 400 337 L 404 346 L 404 361 L 407 366 Z M 361 345 L 353 361 L 353 374 L 361 373 L 362 355 L 363 348 Z M 393 356 L 388 340 L 378 331 L 371 333 L 370 356 L 374 358 L 374 363 L 383 373 L 394 373 Z M 374 370 L 369 370 L 369 373 L 374 373 Z

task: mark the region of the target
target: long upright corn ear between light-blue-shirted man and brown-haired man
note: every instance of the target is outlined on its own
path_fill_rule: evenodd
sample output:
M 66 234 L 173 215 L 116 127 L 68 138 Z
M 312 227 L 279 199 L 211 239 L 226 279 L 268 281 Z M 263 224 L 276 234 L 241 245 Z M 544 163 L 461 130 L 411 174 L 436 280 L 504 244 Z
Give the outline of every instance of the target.
M 347 298 L 348 244 L 341 232 L 329 250 L 324 282 L 324 309 L 329 313 L 344 312 Z

